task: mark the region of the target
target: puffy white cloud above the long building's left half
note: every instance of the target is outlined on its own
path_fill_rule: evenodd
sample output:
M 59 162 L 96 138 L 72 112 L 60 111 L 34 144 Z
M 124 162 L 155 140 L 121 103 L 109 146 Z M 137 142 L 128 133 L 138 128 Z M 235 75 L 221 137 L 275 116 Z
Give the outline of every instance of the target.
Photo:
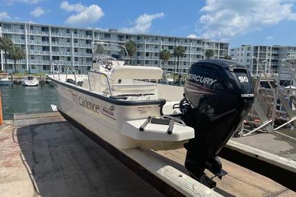
M 98 5 L 92 5 L 78 14 L 71 15 L 64 22 L 69 25 L 85 26 L 87 24 L 94 24 L 94 22 L 98 21 L 98 19 L 101 19 L 103 16 L 103 10 Z

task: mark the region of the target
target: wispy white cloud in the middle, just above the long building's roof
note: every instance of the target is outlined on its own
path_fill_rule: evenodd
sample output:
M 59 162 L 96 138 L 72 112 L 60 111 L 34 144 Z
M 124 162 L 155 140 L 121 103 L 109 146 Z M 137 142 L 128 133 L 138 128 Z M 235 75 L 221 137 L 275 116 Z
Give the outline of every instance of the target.
M 132 24 L 131 28 L 121 28 L 121 32 L 146 33 L 149 32 L 152 21 L 164 17 L 164 12 L 153 15 L 143 14 L 139 16 Z

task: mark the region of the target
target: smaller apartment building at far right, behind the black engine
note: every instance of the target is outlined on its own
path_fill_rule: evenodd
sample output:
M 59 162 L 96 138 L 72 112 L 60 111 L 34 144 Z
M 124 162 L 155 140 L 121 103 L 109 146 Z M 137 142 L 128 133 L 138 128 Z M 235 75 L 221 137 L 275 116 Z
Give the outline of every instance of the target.
M 237 61 L 256 73 L 256 60 L 252 57 L 257 57 L 259 62 L 264 60 L 270 63 L 271 68 L 278 72 L 281 68 L 282 59 L 291 59 L 296 57 L 296 46 L 262 46 L 262 45 L 242 45 L 238 48 L 230 50 L 230 56 L 234 61 Z

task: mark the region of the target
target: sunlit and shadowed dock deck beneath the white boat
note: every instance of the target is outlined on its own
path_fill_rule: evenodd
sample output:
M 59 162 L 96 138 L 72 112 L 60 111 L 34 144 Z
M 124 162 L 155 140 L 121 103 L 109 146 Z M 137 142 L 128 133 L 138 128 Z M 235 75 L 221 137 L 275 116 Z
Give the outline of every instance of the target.
M 296 196 L 221 158 L 209 189 L 188 176 L 186 150 L 117 150 L 60 113 L 18 114 L 0 126 L 0 196 Z

